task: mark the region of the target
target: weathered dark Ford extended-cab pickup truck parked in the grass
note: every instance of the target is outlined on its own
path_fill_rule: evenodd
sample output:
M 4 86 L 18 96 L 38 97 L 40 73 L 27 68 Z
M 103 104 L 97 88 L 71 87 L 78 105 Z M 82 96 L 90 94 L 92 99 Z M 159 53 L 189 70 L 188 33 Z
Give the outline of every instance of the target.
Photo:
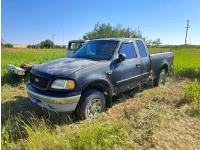
M 27 84 L 32 102 L 56 112 L 85 118 L 112 106 L 112 97 L 149 78 L 164 85 L 173 53 L 150 55 L 141 39 L 109 38 L 87 42 L 72 58 L 34 67 Z

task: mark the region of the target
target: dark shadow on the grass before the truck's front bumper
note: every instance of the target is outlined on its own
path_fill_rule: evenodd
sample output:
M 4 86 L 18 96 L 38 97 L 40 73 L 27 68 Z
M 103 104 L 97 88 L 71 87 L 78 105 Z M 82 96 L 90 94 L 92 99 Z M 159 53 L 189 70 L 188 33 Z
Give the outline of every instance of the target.
M 42 109 L 32 103 L 28 97 L 16 96 L 15 100 L 1 103 L 1 124 L 4 126 L 9 119 L 20 119 L 28 123 L 31 119 L 44 120 L 50 126 L 71 124 L 76 122 L 72 114 L 57 113 Z

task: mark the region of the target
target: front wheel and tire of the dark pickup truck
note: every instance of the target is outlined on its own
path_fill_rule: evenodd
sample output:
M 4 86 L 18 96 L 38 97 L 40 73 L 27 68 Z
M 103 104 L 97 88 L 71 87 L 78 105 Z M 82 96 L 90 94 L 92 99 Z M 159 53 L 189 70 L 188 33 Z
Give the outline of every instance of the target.
M 103 93 L 97 90 L 89 90 L 83 93 L 77 107 L 77 117 L 80 120 L 94 118 L 106 108 L 106 100 Z

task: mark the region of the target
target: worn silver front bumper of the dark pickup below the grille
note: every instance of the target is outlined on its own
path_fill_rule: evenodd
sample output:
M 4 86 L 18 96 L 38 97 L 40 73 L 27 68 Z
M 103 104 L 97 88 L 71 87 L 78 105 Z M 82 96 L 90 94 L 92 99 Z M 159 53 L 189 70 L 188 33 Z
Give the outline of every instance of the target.
M 30 83 L 27 84 L 27 93 L 29 99 L 39 105 L 56 112 L 72 112 L 80 100 L 80 92 L 69 94 L 53 94 L 50 92 L 43 92 L 34 88 Z

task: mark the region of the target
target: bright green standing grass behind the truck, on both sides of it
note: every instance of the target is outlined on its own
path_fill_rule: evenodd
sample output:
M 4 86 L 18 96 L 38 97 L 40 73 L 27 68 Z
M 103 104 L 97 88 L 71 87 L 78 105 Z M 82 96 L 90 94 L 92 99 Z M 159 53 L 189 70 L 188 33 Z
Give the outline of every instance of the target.
M 180 77 L 200 78 L 200 47 L 150 48 L 151 53 L 174 52 L 174 73 Z M 3 49 L 1 60 L 2 83 L 10 82 L 13 76 L 7 71 L 8 64 L 20 66 L 24 63 L 42 63 L 66 56 L 65 49 Z

